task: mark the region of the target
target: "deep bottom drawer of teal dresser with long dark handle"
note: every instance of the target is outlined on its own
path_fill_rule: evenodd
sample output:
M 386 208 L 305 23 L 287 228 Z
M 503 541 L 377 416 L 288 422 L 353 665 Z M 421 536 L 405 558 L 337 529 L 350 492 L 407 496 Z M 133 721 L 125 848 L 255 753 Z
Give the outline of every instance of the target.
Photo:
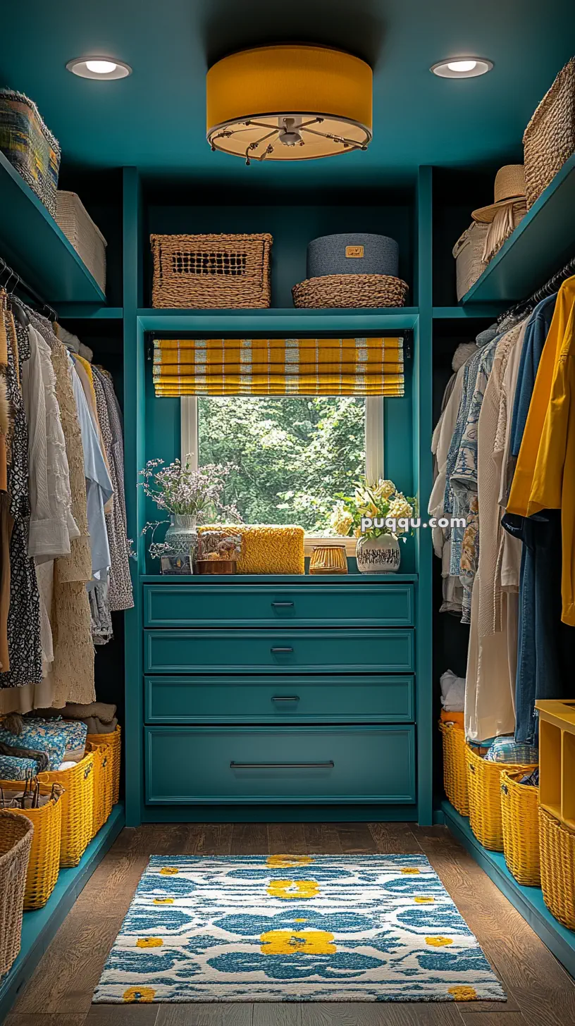
M 146 801 L 414 802 L 413 726 L 146 727 Z

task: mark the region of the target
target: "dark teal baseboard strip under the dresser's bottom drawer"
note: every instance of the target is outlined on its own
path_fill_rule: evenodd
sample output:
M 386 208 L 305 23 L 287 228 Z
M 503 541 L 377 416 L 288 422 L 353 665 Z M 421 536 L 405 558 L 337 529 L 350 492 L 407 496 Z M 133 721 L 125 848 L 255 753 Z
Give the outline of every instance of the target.
M 417 823 L 417 805 L 144 806 L 143 823 Z

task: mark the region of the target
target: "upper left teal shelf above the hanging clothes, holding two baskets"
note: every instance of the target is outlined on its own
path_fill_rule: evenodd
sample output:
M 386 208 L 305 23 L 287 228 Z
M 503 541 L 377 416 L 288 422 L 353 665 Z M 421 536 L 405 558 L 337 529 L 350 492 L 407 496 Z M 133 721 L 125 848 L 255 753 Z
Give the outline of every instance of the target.
M 52 215 L 0 153 L 0 256 L 56 308 L 106 297 Z

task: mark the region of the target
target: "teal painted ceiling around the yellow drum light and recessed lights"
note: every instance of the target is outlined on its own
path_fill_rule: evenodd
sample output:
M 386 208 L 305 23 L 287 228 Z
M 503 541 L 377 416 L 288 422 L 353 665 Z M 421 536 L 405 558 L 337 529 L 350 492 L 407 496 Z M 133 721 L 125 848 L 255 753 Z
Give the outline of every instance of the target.
M 68 164 L 135 164 L 233 185 L 377 185 L 420 164 L 521 159 L 523 130 L 575 51 L 573 0 L 24 0 L 4 3 L 0 79 L 34 98 Z M 205 72 L 266 42 L 339 46 L 374 68 L 374 140 L 299 166 L 252 165 L 205 142 Z M 89 53 L 127 62 L 116 82 L 72 76 Z M 483 78 L 431 75 L 435 61 L 490 57 Z M 256 177 L 257 176 L 257 177 Z

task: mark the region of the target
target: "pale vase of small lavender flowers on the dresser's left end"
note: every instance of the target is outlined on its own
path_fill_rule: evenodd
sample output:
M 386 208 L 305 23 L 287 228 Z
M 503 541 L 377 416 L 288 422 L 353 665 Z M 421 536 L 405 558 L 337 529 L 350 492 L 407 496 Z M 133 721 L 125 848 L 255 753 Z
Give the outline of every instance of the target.
M 144 470 L 140 471 L 143 478 L 140 483 L 158 509 L 169 513 L 169 520 L 149 521 L 142 531 L 143 535 L 151 531 L 152 559 L 189 556 L 190 568 L 193 568 L 197 559 L 198 524 L 219 516 L 240 519 L 235 506 L 226 506 L 222 502 L 230 470 L 231 467 L 221 464 L 208 464 L 195 470 L 189 457 L 185 463 L 175 460 L 168 466 L 163 460 L 148 461 Z M 163 523 L 168 524 L 164 541 L 156 542 L 155 532 Z

